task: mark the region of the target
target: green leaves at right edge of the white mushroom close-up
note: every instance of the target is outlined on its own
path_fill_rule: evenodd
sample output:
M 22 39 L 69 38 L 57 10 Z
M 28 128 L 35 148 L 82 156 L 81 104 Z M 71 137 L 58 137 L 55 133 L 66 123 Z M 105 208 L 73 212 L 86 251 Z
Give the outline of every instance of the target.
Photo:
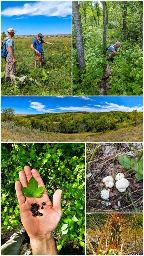
M 138 160 L 130 158 L 128 155 L 120 155 L 119 162 L 124 168 L 135 171 L 137 180 L 143 179 L 143 151 L 138 154 Z

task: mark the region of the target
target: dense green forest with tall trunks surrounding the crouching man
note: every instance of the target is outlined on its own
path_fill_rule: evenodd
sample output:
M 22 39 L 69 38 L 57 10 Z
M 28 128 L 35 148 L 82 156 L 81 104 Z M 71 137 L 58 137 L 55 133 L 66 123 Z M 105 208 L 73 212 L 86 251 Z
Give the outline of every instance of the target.
M 73 95 L 142 93 L 143 1 L 73 1 Z

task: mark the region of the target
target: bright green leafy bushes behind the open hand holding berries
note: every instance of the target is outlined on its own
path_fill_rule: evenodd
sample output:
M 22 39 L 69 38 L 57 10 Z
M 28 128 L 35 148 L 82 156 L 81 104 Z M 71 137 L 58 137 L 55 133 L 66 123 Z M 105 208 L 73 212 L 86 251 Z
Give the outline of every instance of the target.
M 62 255 L 84 254 L 85 205 L 84 143 L 14 143 L 1 145 L 2 244 L 21 228 L 15 182 L 25 165 L 40 173 L 52 200 L 55 190 L 62 189 L 62 218 L 53 236 Z M 40 210 L 39 210 L 40 211 Z M 26 239 L 21 248 L 29 248 Z

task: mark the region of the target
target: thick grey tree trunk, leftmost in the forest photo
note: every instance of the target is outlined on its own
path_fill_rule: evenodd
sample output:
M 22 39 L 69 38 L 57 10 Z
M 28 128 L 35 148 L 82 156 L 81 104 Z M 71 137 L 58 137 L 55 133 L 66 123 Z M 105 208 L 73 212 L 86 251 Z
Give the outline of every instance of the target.
M 85 68 L 82 23 L 78 1 L 73 1 L 73 21 L 76 36 L 77 61 L 80 68 Z

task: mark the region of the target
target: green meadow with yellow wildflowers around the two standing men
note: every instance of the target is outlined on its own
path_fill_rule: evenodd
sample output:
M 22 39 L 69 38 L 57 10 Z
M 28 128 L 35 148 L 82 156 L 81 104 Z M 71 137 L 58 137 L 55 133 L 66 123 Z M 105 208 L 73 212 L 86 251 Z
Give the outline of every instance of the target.
M 14 38 L 16 76 L 14 83 L 5 81 L 5 61 L 1 60 L 2 95 L 71 95 L 71 36 L 44 38 L 54 43 L 43 45 L 43 68 L 34 68 L 32 38 Z

